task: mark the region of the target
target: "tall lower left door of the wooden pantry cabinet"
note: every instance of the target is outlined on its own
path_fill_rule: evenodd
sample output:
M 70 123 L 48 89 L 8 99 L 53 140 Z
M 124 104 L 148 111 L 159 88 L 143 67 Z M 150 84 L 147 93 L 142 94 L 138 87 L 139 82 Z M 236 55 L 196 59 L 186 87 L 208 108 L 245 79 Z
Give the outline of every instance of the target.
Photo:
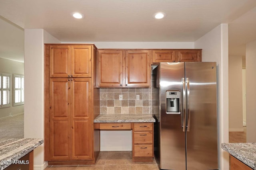
M 70 154 L 70 83 L 50 78 L 50 160 L 66 160 Z

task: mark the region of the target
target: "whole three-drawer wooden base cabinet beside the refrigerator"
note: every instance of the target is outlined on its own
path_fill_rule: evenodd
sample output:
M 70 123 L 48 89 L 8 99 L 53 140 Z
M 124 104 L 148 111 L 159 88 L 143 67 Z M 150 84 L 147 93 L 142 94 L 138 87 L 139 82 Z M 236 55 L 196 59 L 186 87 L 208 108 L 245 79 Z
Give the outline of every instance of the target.
M 134 162 L 153 161 L 153 123 L 134 123 L 132 131 L 132 160 Z

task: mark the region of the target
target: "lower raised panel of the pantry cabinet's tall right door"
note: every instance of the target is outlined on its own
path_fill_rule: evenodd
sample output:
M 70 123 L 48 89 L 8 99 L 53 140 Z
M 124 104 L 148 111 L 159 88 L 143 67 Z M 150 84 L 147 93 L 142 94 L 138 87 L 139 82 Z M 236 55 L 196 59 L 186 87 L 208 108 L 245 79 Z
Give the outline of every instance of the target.
M 72 126 L 72 159 L 92 159 L 92 123 L 74 120 Z

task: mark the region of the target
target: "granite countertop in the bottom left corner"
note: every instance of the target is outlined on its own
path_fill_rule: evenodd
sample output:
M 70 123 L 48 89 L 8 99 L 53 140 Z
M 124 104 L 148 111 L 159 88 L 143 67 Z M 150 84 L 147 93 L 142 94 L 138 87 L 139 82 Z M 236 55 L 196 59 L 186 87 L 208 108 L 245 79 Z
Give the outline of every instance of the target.
M 44 143 L 43 139 L 0 139 L 0 170 L 19 160 L 36 147 Z

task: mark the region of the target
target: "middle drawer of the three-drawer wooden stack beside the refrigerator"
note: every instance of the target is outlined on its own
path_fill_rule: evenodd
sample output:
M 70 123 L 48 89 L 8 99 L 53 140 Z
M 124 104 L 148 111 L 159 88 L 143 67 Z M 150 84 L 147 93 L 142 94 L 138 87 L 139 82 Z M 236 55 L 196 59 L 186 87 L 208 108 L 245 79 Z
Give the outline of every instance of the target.
M 134 144 L 152 144 L 152 132 L 134 132 Z

